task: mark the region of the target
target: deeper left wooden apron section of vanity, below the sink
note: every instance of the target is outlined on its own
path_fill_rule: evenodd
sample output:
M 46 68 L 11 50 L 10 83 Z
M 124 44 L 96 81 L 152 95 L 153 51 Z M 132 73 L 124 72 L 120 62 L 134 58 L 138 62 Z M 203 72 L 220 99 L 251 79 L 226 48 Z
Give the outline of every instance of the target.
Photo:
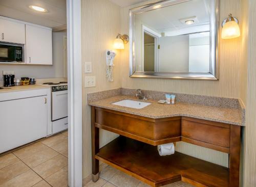
M 181 141 L 181 117 L 152 119 L 96 108 L 95 126 L 154 146 Z

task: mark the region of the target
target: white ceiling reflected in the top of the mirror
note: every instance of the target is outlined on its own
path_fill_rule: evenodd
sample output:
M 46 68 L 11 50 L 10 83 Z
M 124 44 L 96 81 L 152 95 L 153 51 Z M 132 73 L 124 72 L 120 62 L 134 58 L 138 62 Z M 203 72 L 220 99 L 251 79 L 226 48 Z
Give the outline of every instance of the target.
M 193 0 L 168 6 L 153 11 L 147 11 L 137 14 L 136 20 L 140 20 L 142 24 L 149 26 L 159 33 L 167 33 L 183 30 L 188 33 L 188 28 L 200 28 L 204 30 L 209 27 L 209 1 L 210 0 Z M 180 19 L 196 17 L 196 22 L 186 25 Z M 199 26 L 200 25 L 200 26 Z

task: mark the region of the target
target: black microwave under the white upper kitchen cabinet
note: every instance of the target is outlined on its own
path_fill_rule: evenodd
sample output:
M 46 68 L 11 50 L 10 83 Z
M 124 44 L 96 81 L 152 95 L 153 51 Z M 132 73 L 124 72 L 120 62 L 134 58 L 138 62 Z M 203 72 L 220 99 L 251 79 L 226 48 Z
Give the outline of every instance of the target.
M 1 43 L 0 62 L 23 62 L 23 46 Z

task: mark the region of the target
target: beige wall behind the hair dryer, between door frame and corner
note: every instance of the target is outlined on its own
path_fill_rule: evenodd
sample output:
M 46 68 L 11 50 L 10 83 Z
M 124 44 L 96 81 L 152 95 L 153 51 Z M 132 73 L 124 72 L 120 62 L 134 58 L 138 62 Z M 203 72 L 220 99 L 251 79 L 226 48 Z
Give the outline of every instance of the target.
M 120 54 L 117 51 L 114 64 L 114 82 L 106 81 L 105 50 L 113 48 L 113 41 L 120 31 L 120 8 L 108 0 L 82 0 L 82 62 L 92 62 L 96 76 L 95 88 L 83 88 L 83 177 L 91 174 L 91 110 L 86 94 L 101 90 L 120 88 Z M 83 81 L 84 85 L 84 81 Z M 100 131 L 100 145 L 115 138 L 112 133 Z

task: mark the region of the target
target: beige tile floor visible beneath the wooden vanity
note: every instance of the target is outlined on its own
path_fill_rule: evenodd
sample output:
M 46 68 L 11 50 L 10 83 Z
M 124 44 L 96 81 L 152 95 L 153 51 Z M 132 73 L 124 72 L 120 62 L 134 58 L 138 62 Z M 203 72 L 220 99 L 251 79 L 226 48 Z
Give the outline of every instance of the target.
M 105 163 L 100 165 L 100 178 L 97 182 L 90 181 L 84 187 L 150 187 L 140 180 L 127 175 Z M 193 187 L 193 185 L 179 181 L 164 187 Z

